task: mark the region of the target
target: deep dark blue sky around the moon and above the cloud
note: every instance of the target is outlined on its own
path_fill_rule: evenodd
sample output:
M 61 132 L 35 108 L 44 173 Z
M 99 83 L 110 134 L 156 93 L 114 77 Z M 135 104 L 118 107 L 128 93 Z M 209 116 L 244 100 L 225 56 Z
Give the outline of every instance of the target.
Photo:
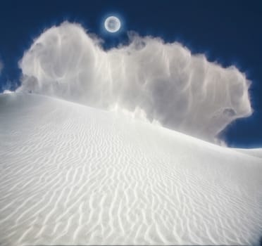
M 125 29 L 118 37 L 101 32 L 109 13 L 120 15 Z M 127 40 L 126 31 L 180 41 L 192 53 L 227 67 L 236 65 L 251 80 L 254 115 L 238 119 L 223 132 L 230 146 L 262 147 L 262 1 L 11 1 L 1 2 L 0 91 L 19 84 L 18 60 L 32 39 L 63 20 L 80 22 L 110 47 Z

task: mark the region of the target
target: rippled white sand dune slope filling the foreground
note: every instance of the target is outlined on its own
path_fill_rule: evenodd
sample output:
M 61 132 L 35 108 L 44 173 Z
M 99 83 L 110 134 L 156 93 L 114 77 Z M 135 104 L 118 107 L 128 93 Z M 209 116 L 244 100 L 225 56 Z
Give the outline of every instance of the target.
M 254 244 L 259 156 L 113 112 L 2 94 L 0 245 Z

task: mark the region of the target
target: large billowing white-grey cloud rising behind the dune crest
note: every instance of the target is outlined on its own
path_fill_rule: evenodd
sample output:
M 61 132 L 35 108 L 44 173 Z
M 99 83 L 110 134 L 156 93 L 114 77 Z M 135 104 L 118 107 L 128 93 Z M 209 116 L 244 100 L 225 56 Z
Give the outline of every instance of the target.
M 99 108 L 142 112 L 150 121 L 208 141 L 251 115 L 249 81 L 179 43 L 130 34 L 109 51 L 80 26 L 64 22 L 35 39 L 20 60 L 18 91 Z

